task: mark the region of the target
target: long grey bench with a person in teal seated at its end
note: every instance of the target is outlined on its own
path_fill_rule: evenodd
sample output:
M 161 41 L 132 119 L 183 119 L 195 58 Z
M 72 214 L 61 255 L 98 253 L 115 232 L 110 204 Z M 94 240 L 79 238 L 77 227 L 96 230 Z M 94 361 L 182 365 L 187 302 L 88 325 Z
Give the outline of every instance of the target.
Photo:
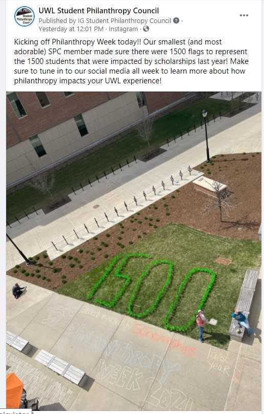
M 252 304 L 255 287 L 257 284 L 258 273 L 259 273 L 258 270 L 247 270 L 246 271 L 243 285 L 241 287 L 238 300 L 236 303 L 236 309 L 243 312 L 243 314 L 247 318 L 250 313 L 250 307 Z M 240 332 L 238 333 L 237 330 L 239 330 Z M 238 324 L 238 321 L 232 318 L 231 325 L 229 328 L 230 339 L 234 339 L 236 341 L 241 342 L 243 339 L 244 333 L 245 333 L 245 328 L 240 327 Z

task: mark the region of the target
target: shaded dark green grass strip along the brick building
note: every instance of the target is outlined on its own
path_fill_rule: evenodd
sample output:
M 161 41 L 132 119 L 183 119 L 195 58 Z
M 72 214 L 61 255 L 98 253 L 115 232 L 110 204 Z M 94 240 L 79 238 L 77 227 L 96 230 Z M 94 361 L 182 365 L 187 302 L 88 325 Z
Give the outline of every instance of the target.
M 175 111 L 157 119 L 154 123 L 151 149 L 163 145 L 166 138 L 172 139 L 174 135 L 179 136 L 180 131 L 186 133 L 187 129 L 193 129 L 195 124 L 199 125 L 204 108 L 208 111 L 208 117 L 212 118 L 214 113 L 227 112 L 230 109 L 230 102 L 210 98 L 202 99 L 188 104 L 180 110 L 175 109 Z M 87 144 L 88 140 L 89 137 Z M 55 171 L 55 186 L 52 193 L 56 198 L 61 198 L 72 192 L 71 187 L 78 188 L 79 182 L 86 185 L 88 178 L 91 181 L 95 179 L 95 174 L 99 177 L 103 176 L 104 171 L 111 171 L 111 166 L 116 168 L 118 163 L 125 164 L 127 158 L 131 160 L 133 155 L 139 158 L 148 151 L 148 144 L 139 139 L 135 131 L 132 131 L 122 136 L 121 139 Z M 25 216 L 23 210 L 29 214 L 32 212 L 33 206 L 35 209 L 41 209 L 51 203 L 49 194 L 41 193 L 26 185 L 7 196 L 7 220 L 12 223 L 16 220 L 14 216 L 18 218 Z

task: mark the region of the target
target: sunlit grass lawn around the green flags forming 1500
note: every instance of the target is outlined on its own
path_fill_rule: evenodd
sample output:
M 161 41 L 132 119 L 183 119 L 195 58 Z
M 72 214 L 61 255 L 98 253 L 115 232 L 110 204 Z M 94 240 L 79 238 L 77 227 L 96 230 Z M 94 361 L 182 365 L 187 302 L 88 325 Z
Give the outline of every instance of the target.
M 115 312 L 127 313 L 132 290 L 140 273 L 151 260 L 173 261 L 172 279 L 158 307 L 142 319 L 163 328 L 163 318 L 187 271 L 193 267 L 207 267 L 217 274 L 217 278 L 203 309 L 208 319 L 211 317 L 218 319 L 218 325 L 215 327 L 208 325 L 204 337 L 214 346 L 227 348 L 231 322 L 230 313 L 237 302 L 246 269 L 259 267 L 260 252 L 261 243 L 258 241 L 221 238 L 194 231 L 186 226 L 165 225 L 144 240 L 124 248 L 122 257 L 126 254 L 145 253 L 150 255 L 152 259 L 132 258 L 127 262 L 122 273 L 129 275 L 131 283 L 111 309 Z M 232 263 L 229 266 L 215 263 L 215 259 L 219 256 L 231 259 Z M 114 277 L 115 268 L 89 301 L 87 294 L 94 283 L 100 279 L 112 259 L 81 275 L 76 281 L 68 282 L 59 290 L 59 293 L 91 303 L 94 303 L 95 298 L 111 301 L 125 282 L 124 279 Z M 135 312 L 146 310 L 153 303 L 158 290 L 166 280 L 167 268 L 165 264 L 154 267 L 143 280 L 134 302 L 133 310 Z M 172 314 L 170 324 L 182 326 L 187 323 L 190 316 L 197 311 L 209 279 L 209 274 L 202 272 L 196 273 L 193 278 L 189 279 L 180 296 L 176 310 Z M 197 338 L 197 333 L 198 329 L 194 324 L 184 335 Z

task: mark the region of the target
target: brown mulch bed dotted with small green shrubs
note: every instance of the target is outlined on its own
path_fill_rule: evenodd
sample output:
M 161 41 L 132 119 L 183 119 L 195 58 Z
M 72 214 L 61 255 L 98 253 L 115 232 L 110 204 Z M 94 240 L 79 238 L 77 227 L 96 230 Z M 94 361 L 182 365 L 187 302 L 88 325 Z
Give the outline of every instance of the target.
M 195 169 L 203 171 L 205 177 L 228 185 L 233 192 L 236 208 L 230 211 L 229 217 L 223 214 L 222 223 L 218 210 L 203 213 L 210 196 L 195 190 L 193 183 L 189 183 L 67 252 L 65 258 L 61 256 L 49 264 L 49 258 L 43 257 L 45 252 L 42 252 L 35 257 L 35 264 L 26 266 L 23 263 L 7 273 L 57 290 L 64 283 L 77 279 L 108 257 L 121 252 L 125 246 L 136 243 L 168 223 L 186 224 L 222 237 L 258 240 L 261 222 L 261 154 L 217 155 L 211 158 L 210 165 L 203 163 Z M 22 269 L 25 269 L 25 273 L 21 272 Z M 54 269 L 57 271 L 54 272 Z

